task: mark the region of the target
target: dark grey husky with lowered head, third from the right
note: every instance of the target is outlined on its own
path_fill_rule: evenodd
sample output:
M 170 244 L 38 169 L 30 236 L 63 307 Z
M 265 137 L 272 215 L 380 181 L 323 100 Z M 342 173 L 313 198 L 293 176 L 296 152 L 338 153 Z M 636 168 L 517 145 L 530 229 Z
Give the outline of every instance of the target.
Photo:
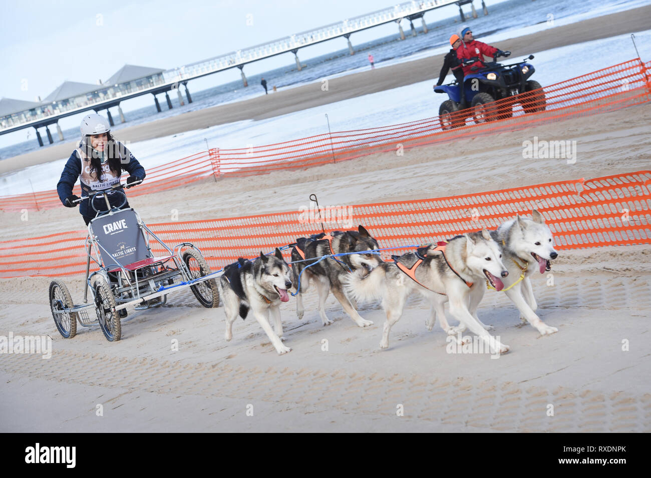
M 326 258 L 318 263 L 318 259 L 327 254 L 340 254 L 342 252 L 362 252 L 378 248 L 376 241 L 370 233 L 359 226 L 357 231 L 334 231 L 329 235 L 316 234 L 311 237 L 299 237 L 296 239 L 296 246 L 292 248 L 292 270 L 296 287 L 296 315 L 303 319 L 305 309 L 303 308 L 303 293 L 307 291 L 309 283 L 316 286 L 319 295 L 319 314 L 323 325 L 331 325 L 333 321 L 326 315 L 326 299 L 329 291 L 339 300 L 346 313 L 350 315 L 355 324 L 360 327 L 373 325 L 357 313 L 357 304 L 353 304 L 344 293 L 342 280 L 346 274 L 352 271 L 363 269 L 370 271 L 383 263 L 380 254 L 367 252 L 366 254 L 347 254 L 337 258 Z M 301 262 L 304 259 L 313 261 Z M 298 261 L 298 262 L 296 262 Z M 307 267 L 310 264 L 310 267 Z M 301 275 L 301 272 L 302 275 Z M 300 280 L 299 280 L 300 276 Z M 298 285 L 300 284 L 300 285 Z

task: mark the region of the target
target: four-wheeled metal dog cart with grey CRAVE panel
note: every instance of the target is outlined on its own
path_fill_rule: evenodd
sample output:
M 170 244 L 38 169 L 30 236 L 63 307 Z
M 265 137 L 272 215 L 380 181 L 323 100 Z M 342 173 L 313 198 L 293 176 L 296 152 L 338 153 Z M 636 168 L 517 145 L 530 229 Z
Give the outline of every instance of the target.
M 135 183 L 132 183 L 135 185 Z M 62 280 L 49 284 L 49 304 L 52 317 L 61 336 L 66 339 L 77 334 L 77 322 L 82 326 L 99 323 L 109 341 L 120 340 L 126 308 L 145 309 L 160 306 L 168 293 L 189 287 L 204 307 L 219 305 L 217 274 L 212 272 L 199 248 L 191 243 L 167 246 L 147 227 L 132 209 L 119 209 L 126 204 L 124 185 L 92 191 L 77 200 L 89 200 L 96 211 L 90 220 L 85 241 L 87 253 L 83 304 L 74 304 L 70 291 Z M 111 207 L 108 194 L 122 194 L 119 207 Z M 98 211 L 95 201 L 104 200 L 107 211 Z M 101 204 L 101 202 L 100 202 Z M 163 256 L 154 256 L 150 244 L 162 246 Z M 90 272 L 91 261 L 99 269 Z M 88 300 L 90 294 L 92 300 Z M 96 318 L 89 311 L 94 309 Z

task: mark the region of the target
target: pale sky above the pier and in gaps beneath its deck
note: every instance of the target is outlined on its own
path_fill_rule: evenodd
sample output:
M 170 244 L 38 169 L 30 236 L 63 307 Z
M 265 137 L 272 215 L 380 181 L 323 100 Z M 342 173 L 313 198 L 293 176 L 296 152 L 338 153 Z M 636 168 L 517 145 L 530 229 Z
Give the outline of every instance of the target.
M 398 2 L 396 2 L 398 3 Z M 391 7 L 388 0 L 15 1 L 0 0 L 0 97 L 35 101 L 63 81 L 97 84 L 124 64 L 174 68 Z M 480 5 L 480 1 L 477 2 Z M 497 3 L 492 0 L 490 3 Z M 430 21 L 456 14 L 430 13 Z M 248 23 L 248 24 L 247 24 Z M 403 28 L 408 23 L 403 22 Z M 355 44 L 395 33 L 393 23 L 352 36 Z M 346 47 L 339 38 L 299 50 L 299 57 Z M 290 53 L 245 66 L 245 73 L 294 64 Z M 239 79 L 236 69 L 193 82 L 201 90 Z

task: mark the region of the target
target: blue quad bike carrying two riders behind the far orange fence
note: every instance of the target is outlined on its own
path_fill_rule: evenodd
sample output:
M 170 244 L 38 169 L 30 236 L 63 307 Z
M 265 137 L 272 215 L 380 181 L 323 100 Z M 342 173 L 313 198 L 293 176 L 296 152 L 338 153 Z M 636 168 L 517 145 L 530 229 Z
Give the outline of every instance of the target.
M 439 107 L 439 117 L 443 129 L 464 126 L 466 118 L 473 117 L 476 124 L 502 120 L 513 116 L 513 107 L 520 104 L 525 113 L 545 111 L 546 98 L 542 86 L 529 77 L 536 71 L 527 60 L 513 64 L 497 63 L 497 57 L 508 57 L 510 53 L 497 51 L 493 61 L 484 68 L 473 66 L 474 73 L 464 77 L 465 104 L 460 104 L 460 86 L 458 81 L 449 85 L 434 86 L 435 93 L 447 93 L 448 100 Z M 477 59 L 470 59 L 465 64 L 473 64 Z M 540 90 L 537 91 L 536 90 Z M 512 101 L 499 101 L 511 98 Z

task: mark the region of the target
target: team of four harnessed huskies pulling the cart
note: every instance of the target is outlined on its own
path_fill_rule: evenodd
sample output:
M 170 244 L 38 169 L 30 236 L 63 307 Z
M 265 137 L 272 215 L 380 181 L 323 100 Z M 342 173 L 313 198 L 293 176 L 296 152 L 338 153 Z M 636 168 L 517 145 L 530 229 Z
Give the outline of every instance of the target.
M 536 315 L 538 306 L 530 278 L 535 272 L 549 271 L 550 261 L 558 254 L 549 227 L 535 209 L 532 219 L 518 215 L 497 230 L 458 235 L 437 245 L 392 256 L 393 262 L 385 262 L 379 252 L 372 252 L 378 248 L 378 241 L 359 226 L 357 231 L 299 237 L 291 251 L 291 269 L 278 249 L 273 256 L 260 252 L 253 260 L 238 259 L 224 268 L 220 278 L 225 338 L 232 339 L 234 321 L 238 316 L 245 319 L 250 311 L 276 351 L 290 352 L 292 349 L 282 341 L 280 304 L 288 302 L 289 291 L 295 290 L 296 315 L 303 319 L 302 296 L 309 285 L 318 293 L 318 311 L 324 326 L 333 323 L 325 309 L 330 292 L 360 327 L 373 323 L 359 315 L 357 302 L 381 300 L 387 315 L 380 341 L 382 349 L 389 347 L 391 327 L 402 317 L 406 300 L 413 293 L 430 302 L 428 330 L 438 319 L 445 332 L 462 340 L 460 332 L 469 329 L 493 353 L 506 353 L 509 347 L 494 338 L 488 332 L 492 327 L 477 317 L 477 308 L 488 287 L 503 291 L 518 308 L 521 320 L 529 322 L 540 334 L 558 332 Z M 324 258 L 342 253 L 345 254 Z M 459 321 L 458 326 L 449 325 L 446 302 L 450 315 Z

